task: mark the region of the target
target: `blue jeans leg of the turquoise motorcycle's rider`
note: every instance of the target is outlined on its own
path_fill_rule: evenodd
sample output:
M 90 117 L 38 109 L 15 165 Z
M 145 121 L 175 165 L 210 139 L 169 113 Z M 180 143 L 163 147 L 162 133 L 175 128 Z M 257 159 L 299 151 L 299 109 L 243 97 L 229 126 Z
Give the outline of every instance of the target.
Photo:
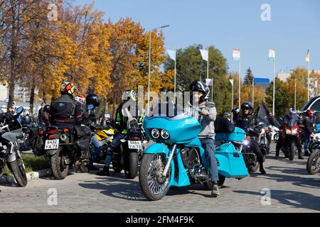
M 218 182 L 218 164 L 215 157 L 215 140 L 208 138 L 201 140 L 201 146 L 205 150 L 206 160 L 208 162 L 210 179 L 212 182 Z

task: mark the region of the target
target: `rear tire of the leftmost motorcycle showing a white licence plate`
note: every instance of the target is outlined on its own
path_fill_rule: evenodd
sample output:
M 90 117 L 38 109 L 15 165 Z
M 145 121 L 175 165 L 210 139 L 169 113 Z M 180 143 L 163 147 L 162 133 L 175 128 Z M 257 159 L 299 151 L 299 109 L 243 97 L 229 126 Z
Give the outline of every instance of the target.
M 59 147 L 57 153 L 50 158 L 51 169 L 55 179 L 65 179 L 65 177 L 68 176 L 69 165 L 63 163 L 65 158 L 61 147 Z

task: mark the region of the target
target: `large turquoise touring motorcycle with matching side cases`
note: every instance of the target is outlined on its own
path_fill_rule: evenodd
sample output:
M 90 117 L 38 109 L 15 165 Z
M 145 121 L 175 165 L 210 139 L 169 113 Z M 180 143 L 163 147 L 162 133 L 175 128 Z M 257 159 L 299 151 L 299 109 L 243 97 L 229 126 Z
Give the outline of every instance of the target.
M 144 119 L 144 130 L 156 142 L 144 151 L 139 170 L 140 187 L 147 199 L 162 199 L 170 187 L 191 184 L 203 184 L 212 190 L 208 162 L 198 138 L 201 125 L 196 118 L 186 114 L 173 118 L 151 116 Z M 247 177 L 241 153 L 245 131 L 235 128 L 233 133 L 217 133 L 215 140 L 220 141 L 216 148 L 219 186 L 225 178 Z

